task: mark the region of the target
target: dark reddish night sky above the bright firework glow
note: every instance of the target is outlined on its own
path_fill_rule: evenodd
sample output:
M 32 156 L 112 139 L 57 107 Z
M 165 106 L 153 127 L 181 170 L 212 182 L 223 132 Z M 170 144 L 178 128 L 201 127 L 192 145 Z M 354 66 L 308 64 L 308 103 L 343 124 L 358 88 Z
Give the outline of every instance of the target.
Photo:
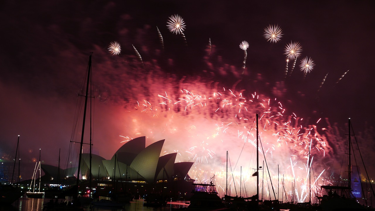
M 166 28 L 168 17 L 174 14 L 186 23 L 187 48 L 181 36 Z M 329 118 L 341 127 L 351 117 L 358 131 L 375 124 L 374 1 L 5 0 L 0 3 L 0 19 L 0 152 L 8 158 L 14 156 L 20 134 L 25 163 L 38 157 L 39 148 L 47 164 L 55 164 L 59 148 L 63 154 L 68 152 L 75 103 L 90 52 L 100 95 L 95 121 L 101 130 L 96 132 L 96 140 L 113 144 L 103 148 L 106 145 L 98 141 L 96 151 L 110 158 L 121 146 L 118 136 L 126 134 L 121 133 L 123 124 L 115 117 L 121 107 L 135 101 L 129 89 L 147 87 L 147 82 L 136 78 L 144 69 L 139 68 L 132 45 L 146 66 L 160 75 L 175 75 L 176 80 L 209 78 L 232 87 L 242 78 L 239 44 L 248 41 L 241 89 L 272 95 L 269 87 L 283 81 L 281 89 L 288 90 L 285 103 L 304 116 Z M 283 30 L 282 40 L 276 44 L 263 38 L 269 24 Z M 164 54 L 156 27 L 163 36 Z M 211 66 L 204 59 L 208 39 Z M 121 44 L 117 57 L 107 51 L 112 41 Z M 293 74 L 283 78 L 284 46 L 290 41 L 300 42 L 301 57 L 309 56 L 315 62 L 305 80 L 300 59 Z

